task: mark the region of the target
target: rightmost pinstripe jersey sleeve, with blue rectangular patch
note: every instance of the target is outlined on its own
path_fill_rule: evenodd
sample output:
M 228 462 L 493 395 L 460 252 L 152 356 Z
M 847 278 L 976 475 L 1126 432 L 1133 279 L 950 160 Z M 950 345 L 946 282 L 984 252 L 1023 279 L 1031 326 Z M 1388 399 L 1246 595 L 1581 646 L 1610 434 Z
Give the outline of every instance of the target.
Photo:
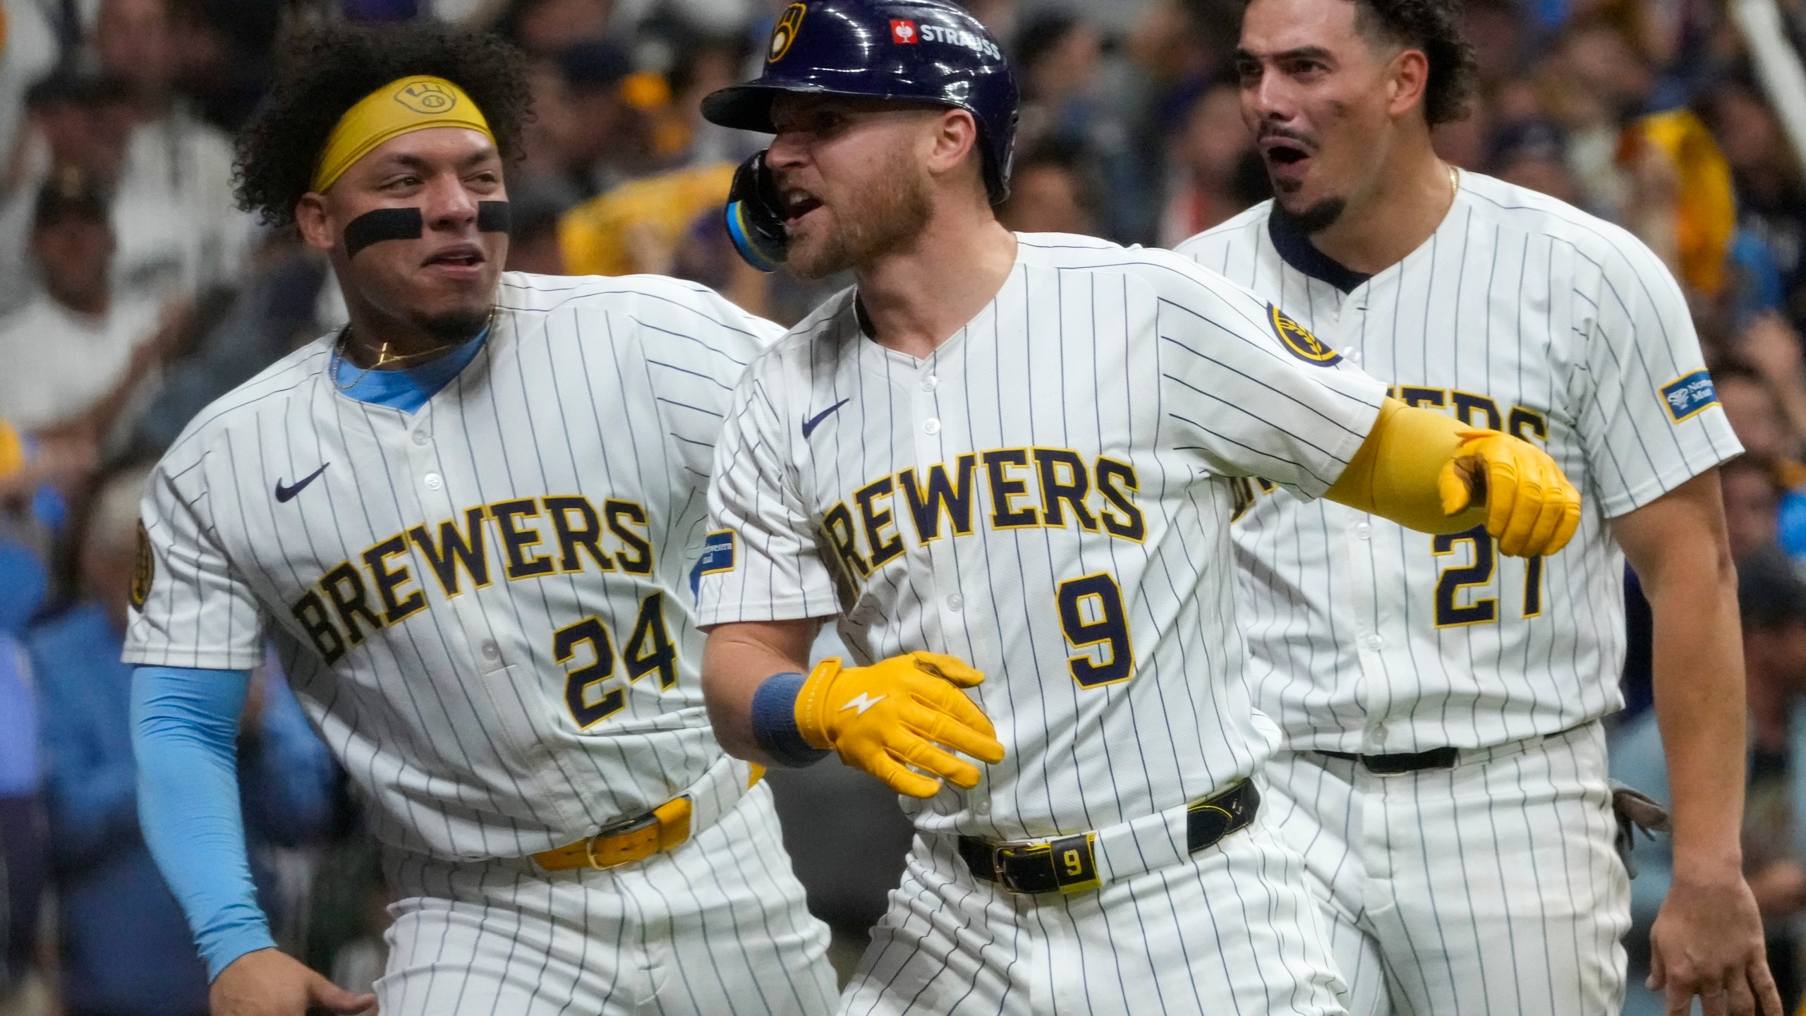
M 1595 304 L 1577 307 L 1586 338 L 1577 430 L 1591 495 L 1618 517 L 1730 459 L 1730 430 L 1674 277 L 1629 233 L 1595 248 Z M 1587 264 L 1582 251 L 1582 266 Z

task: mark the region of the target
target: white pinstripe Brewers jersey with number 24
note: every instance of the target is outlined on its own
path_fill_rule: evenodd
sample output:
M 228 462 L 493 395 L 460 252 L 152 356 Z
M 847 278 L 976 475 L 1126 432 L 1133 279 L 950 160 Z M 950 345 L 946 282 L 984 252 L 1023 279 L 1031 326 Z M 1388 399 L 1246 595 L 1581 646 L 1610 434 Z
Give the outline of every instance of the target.
M 688 569 L 777 331 L 688 282 L 506 273 L 484 349 L 414 414 L 336 390 L 334 336 L 309 343 L 159 463 L 126 660 L 244 669 L 273 636 L 410 850 L 522 855 L 665 803 L 722 757 Z

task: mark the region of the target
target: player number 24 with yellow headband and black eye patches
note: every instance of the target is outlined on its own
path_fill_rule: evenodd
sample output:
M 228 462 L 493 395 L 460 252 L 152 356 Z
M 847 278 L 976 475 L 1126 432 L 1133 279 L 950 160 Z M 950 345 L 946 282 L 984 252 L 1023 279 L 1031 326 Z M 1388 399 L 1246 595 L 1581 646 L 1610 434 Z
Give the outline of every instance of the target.
M 141 814 L 217 1014 L 372 1002 L 271 949 L 244 875 L 265 636 L 385 844 L 385 1016 L 831 1007 L 769 790 L 710 734 L 688 579 L 777 329 L 670 278 L 504 275 L 524 99 L 486 36 L 321 29 L 240 145 L 246 206 L 330 257 L 350 324 L 144 495 Z

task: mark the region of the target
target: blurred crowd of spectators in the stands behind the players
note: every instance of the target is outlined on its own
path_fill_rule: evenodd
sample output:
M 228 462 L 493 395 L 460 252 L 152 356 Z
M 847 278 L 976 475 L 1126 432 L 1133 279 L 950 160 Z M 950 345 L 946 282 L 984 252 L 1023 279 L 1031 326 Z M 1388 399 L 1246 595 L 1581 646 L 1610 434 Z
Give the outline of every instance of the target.
M 970 0 L 1022 87 L 1024 231 L 1172 246 L 1266 197 L 1241 123 L 1241 0 Z M 721 204 L 760 139 L 701 96 L 757 72 L 782 0 L 4 0 L 0 419 L 0 1014 L 206 1011 L 175 902 L 137 830 L 119 663 L 148 461 L 231 387 L 343 320 L 327 266 L 233 202 L 233 130 L 293 22 L 441 18 L 531 56 L 509 170 L 509 268 L 666 273 L 791 324 L 838 280 L 760 275 Z M 1781 0 L 1806 42 L 1806 0 Z M 1727 0 L 1468 0 L 1481 90 L 1439 128 L 1468 170 L 1642 237 L 1687 289 L 1746 454 L 1723 470 L 1739 560 L 1752 745 L 1748 877 L 1772 964 L 1806 987 L 1806 172 Z M 1806 136 L 1802 136 L 1806 139 Z M 0 459 L 5 457 L 0 434 Z M 1631 707 L 1615 770 L 1663 790 L 1647 611 L 1631 591 Z M 1640 631 L 1642 626 L 1642 631 Z M 383 893 L 358 812 L 282 674 L 246 707 L 240 779 L 285 947 L 347 987 L 381 971 Z M 1792 767 L 1793 748 L 1802 765 Z M 811 900 L 849 942 L 908 832 L 870 781 L 780 781 Z M 1638 851 L 1627 1012 L 1667 884 Z

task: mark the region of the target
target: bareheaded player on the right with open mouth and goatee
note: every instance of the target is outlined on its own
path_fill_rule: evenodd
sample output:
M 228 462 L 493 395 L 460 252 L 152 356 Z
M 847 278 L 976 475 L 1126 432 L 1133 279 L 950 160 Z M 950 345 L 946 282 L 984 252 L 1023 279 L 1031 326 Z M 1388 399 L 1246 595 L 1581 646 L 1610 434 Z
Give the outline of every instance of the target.
M 1243 116 L 1275 199 L 1179 251 L 1284 302 L 1400 401 L 1546 448 L 1587 510 L 1506 560 L 1273 483 L 1232 526 L 1270 806 L 1304 851 L 1356 1016 L 1600 1014 L 1625 868 L 1600 718 L 1622 705 L 1624 559 L 1656 618 L 1674 889 L 1671 1012 L 1779 1012 L 1739 873 L 1743 671 L 1714 466 L 1741 448 L 1687 304 L 1624 230 L 1457 172 L 1472 51 L 1447 0 L 1253 0 Z

